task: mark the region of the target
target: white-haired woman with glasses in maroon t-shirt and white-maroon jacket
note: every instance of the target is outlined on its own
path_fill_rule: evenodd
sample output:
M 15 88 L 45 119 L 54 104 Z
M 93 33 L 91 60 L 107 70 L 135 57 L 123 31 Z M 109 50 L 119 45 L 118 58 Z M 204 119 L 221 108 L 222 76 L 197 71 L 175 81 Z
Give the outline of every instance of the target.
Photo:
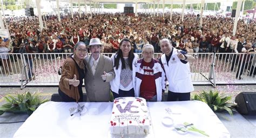
M 142 48 L 143 59 L 138 60 L 136 67 L 135 96 L 146 101 L 161 101 L 165 91 L 165 72 L 163 66 L 154 59 L 154 47 L 146 44 Z

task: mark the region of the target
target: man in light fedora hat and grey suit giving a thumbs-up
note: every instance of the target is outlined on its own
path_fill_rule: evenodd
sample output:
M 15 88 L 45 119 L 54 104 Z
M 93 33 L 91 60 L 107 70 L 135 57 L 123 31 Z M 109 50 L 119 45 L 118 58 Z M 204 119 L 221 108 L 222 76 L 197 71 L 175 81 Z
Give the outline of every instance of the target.
M 106 102 L 110 100 L 110 81 L 115 77 L 112 60 L 100 54 L 103 44 L 99 38 L 91 38 L 90 56 L 85 57 L 85 89 L 87 101 Z

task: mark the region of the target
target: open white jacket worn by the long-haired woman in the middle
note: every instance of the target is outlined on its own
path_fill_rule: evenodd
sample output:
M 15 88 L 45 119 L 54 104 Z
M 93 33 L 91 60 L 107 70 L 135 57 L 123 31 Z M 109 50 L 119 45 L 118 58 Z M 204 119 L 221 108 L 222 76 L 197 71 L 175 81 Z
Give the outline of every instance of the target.
M 113 61 L 113 66 L 114 66 L 114 58 L 116 58 L 116 57 L 117 57 L 116 53 L 112 54 L 112 56 L 111 56 L 111 59 Z M 138 54 L 134 53 L 134 59 L 132 61 L 132 85 L 133 85 L 133 88 L 135 88 L 135 69 L 136 69 L 136 66 L 137 66 L 138 57 L 139 57 Z M 120 59 L 118 69 L 116 69 L 116 67 L 114 67 L 114 73 L 116 74 L 116 77 L 112 81 L 110 81 L 111 91 L 115 92 L 117 94 L 118 94 L 119 86 L 120 86 L 121 68 L 122 68 L 122 62 L 121 62 L 121 59 Z

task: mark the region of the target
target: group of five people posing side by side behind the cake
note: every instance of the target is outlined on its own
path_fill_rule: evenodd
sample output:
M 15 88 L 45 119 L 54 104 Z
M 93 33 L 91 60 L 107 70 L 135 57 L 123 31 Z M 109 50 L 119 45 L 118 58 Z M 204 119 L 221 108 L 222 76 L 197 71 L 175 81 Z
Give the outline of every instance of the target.
M 190 62 L 195 58 L 185 51 L 172 47 L 169 39 L 160 40 L 164 53 L 160 60 L 154 59 L 154 47 L 142 47 L 142 59 L 133 53 L 131 40 L 124 38 L 112 57 L 100 54 L 104 46 L 99 38 L 92 38 L 87 46 L 78 42 L 63 64 L 59 81 L 59 95 L 64 102 L 107 102 L 110 91 L 114 98 L 136 96 L 147 101 L 162 101 L 169 81 L 167 101 L 190 100 L 194 90 L 191 81 Z M 83 79 L 87 99 L 83 99 Z M 187 84 L 187 87 L 183 85 Z

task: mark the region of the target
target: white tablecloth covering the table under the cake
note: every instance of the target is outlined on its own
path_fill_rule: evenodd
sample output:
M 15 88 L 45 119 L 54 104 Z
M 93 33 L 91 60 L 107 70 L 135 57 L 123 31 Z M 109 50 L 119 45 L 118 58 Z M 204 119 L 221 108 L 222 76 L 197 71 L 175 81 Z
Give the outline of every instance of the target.
M 80 103 L 81 104 L 81 103 Z M 46 102 L 23 123 L 14 137 L 108 137 L 112 102 L 83 102 L 87 111 L 70 116 L 69 109 L 75 102 Z M 174 114 L 167 114 L 170 108 Z M 205 137 L 199 133 L 180 135 L 165 127 L 161 120 L 171 116 L 174 123 L 193 123 L 210 137 L 230 137 L 223 123 L 200 101 L 149 102 L 154 137 Z M 176 114 L 179 113 L 179 114 Z

